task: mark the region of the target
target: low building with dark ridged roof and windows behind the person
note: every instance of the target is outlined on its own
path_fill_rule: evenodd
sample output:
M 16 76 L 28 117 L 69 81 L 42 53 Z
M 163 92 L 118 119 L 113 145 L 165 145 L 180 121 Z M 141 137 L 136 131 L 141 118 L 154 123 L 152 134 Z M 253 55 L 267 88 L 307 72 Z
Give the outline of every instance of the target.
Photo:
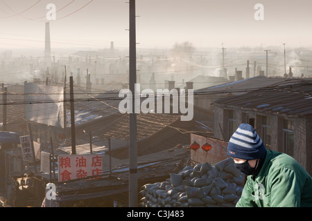
M 225 97 L 214 102 L 214 135 L 228 141 L 241 123 L 254 126 L 266 148 L 287 153 L 312 173 L 312 81 Z

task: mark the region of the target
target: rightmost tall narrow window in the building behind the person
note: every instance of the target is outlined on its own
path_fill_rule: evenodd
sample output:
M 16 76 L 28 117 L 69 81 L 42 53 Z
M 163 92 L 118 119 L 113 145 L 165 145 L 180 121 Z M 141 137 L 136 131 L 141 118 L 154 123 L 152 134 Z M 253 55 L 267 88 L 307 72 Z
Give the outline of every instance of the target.
M 294 145 L 293 128 L 293 120 L 283 120 L 283 152 L 291 156 L 293 156 Z

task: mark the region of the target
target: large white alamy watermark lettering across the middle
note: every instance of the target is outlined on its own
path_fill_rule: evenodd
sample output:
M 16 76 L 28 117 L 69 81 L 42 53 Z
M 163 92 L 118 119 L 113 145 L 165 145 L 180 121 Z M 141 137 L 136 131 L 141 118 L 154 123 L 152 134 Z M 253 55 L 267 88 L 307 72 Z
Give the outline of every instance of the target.
M 134 96 L 130 89 L 119 91 L 119 97 L 124 98 L 119 103 L 120 113 L 180 113 L 181 121 L 193 119 L 193 89 L 157 89 L 155 93 L 140 88 L 135 84 Z

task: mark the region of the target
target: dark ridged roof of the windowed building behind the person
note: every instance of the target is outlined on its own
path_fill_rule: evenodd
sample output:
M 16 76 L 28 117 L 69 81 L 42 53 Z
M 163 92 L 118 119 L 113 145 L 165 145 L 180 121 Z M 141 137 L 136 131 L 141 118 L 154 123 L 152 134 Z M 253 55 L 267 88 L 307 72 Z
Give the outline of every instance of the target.
M 244 95 L 218 99 L 215 104 L 302 117 L 312 114 L 312 81 L 261 88 Z

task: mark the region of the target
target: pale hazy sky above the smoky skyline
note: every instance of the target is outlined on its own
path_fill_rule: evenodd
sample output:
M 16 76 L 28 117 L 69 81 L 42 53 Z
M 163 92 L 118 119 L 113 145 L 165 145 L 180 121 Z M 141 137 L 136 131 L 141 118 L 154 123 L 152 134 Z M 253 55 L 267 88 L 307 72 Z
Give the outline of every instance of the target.
M 0 0 L 0 48 L 44 48 L 47 4 L 51 47 L 128 47 L 127 0 Z M 263 21 L 254 6 L 263 5 Z M 85 6 L 85 7 L 83 7 Z M 312 46 L 311 0 L 137 0 L 137 41 L 141 48 Z

